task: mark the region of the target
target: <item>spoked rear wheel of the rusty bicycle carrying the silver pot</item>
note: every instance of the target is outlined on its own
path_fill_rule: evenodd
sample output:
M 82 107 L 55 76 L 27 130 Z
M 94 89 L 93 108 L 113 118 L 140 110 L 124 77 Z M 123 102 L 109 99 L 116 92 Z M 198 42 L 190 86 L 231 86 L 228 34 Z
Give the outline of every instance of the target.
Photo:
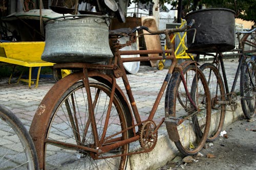
M 97 99 L 95 100 L 96 102 L 94 101 L 96 118 L 95 126 L 97 127 L 98 137 L 101 139 L 103 132 L 102 126 L 104 126 L 106 116 L 105 111 L 108 110 L 109 107 L 108 100 L 111 95 L 111 88 L 103 83 L 90 81 L 90 89 L 92 100 Z M 63 145 L 54 145 L 51 144 L 52 142 L 48 142 L 50 140 L 56 142 L 68 141 L 68 143 L 71 144 L 83 145 L 91 148 L 94 148 L 95 145 L 93 133 L 91 131 L 92 124 L 88 121 L 87 93 L 84 89 L 83 83 L 81 81 L 76 82 L 66 92 L 64 92 L 59 99 L 56 100 L 58 100 L 58 102 L 53 109 L 51 119 L 47 125 L 48 132 L 46 136 L 44 160 L 45 169 L 63 169 L 64 167 L 72 167 L 72 169 L 124 169 L 126 167 L 126 154 L 129 152 L 129 144 L 119 147 L 118 150 L 112 150 L 108 153 L 103 153 L 97 156 L 93 152 L 81 149 L 70 150 Z M 107 142 L 111 139 L 114 140 L 114 138 L 129 138 L 128 130 L 124 130 L 127 129 L 125 109 L 123 108 L 123 105 L 116 93 L 114 94 L 111 109 L 108 128 L 105 138 L 102 139 L 101 145 L 108 144 Z M 66 113 L 67 110 L 72 112 L 73 115 L 76 113 L 77 117 Z M 111 137 L 111 135 L 122 130 L 122 133 Z M 107 140 L 106 137 L 110 138 Z M 109 158 L 118 154 L 123 154 L 123 156 Z

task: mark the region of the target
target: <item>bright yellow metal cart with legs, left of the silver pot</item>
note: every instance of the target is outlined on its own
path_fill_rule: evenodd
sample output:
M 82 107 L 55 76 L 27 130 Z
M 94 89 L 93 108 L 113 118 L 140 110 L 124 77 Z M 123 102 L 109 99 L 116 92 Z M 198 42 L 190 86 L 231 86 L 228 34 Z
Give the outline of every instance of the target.
M 37 71 L 35 88 L 38 86 L 40 71 L 42 66 L 53 66 L 54 63 L 41 60 L 42 52 L 44 51 L 45 42 L 4 42 L 0 43 L 0 62 L 21 65 L 29 67 L 29 79 L 21 79 L 22 74 L 19 76 L 18 81 L 24 81 L 29 84 L 34 84 L 31 81 L 32 67 L 39 67 Z M 14 69 L 13 69 L 14 70 Z M 11 83 L 13 73 L 9 78 Z

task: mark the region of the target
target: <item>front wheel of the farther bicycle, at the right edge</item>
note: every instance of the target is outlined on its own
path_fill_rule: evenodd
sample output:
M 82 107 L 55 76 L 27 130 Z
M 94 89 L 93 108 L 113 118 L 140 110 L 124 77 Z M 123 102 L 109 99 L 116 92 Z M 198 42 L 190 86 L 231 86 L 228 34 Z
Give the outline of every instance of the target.
M 256 92 L 256 65 L 252 60 L 247 60 L 241 67 L 240 95 L 241 106 L 247 119 L 255 115 Z M 254 88 L 253 88 L 254 86 Z

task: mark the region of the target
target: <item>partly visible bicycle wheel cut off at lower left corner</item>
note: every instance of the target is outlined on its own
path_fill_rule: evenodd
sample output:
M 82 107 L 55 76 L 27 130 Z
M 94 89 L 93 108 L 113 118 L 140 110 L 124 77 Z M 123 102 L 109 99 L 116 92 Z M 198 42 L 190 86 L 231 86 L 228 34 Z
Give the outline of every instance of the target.
M 33 140 L 23 123 L 0 105 L 0 169 L 38 169 Z

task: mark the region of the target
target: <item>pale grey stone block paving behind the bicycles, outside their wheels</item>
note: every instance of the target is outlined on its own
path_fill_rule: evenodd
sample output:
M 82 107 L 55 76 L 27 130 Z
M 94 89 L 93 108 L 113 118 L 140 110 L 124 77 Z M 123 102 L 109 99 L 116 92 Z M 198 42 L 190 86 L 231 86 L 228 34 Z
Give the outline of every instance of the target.
M 234 75 L 236 74 L 238 59 L 225 60 L 224 64 L 230 89 Z M 146 119 L 150 113 L 166 72 L 167 69 L 157 70 L 156 68 L 143 65 L 140 66 L 137 74 L 127 75 L 142 120 Z M 0 103 L 9 108 L 29 130 L 40 101 L 54 83 L 55 81 L 53 79 L 40 79 L 38 87 L 36 89 L 30 89 L 27 83 L 20 82 L 19 84 L 9 85 L 7 78 L 0 78 Z M 118 79 L 117 83 L 124 89 L 121 79 Z M 238 80 L 236 91 L 239 91 L 239 85 L 240 82 Z M 165 94 L 153 119 L 156 123 L 164 117 L 164 97 Z M 162 125 L 159 129 L 159 135 L 161 134 L 166 135 L 165 125 Z M 134 147 L 136 147 L 136 144 Z

